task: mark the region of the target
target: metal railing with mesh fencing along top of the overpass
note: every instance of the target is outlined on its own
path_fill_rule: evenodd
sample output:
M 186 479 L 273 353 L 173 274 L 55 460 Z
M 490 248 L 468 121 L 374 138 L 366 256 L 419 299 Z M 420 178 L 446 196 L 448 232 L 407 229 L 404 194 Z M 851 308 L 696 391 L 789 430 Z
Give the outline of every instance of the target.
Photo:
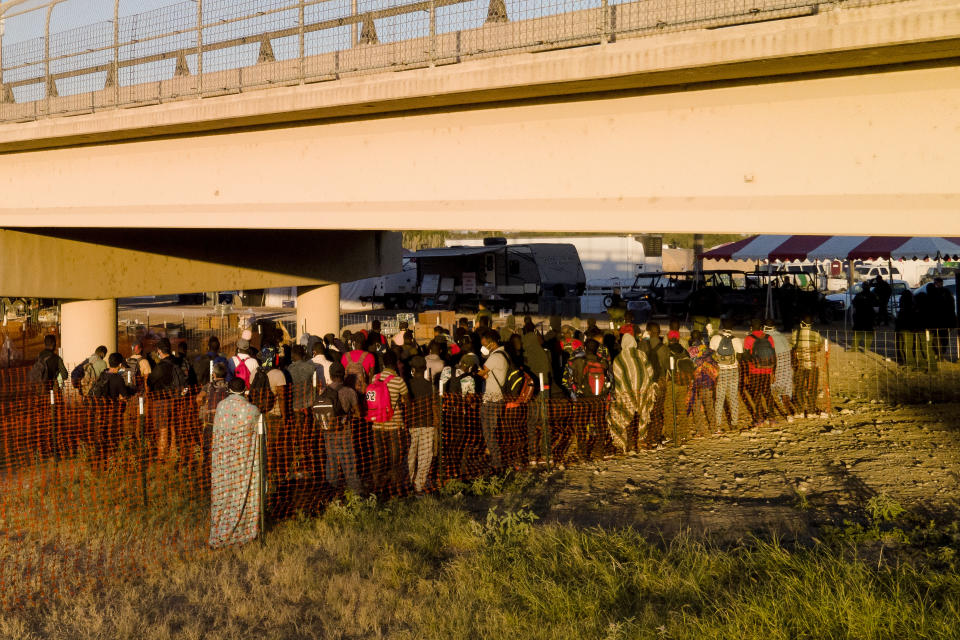
M 190 0 L 126 15 L 125 2 L 0 1 L 0 122 L 785 19 L 821 6 L 817 0 Z M 104 19 L 85 24 L 90 16 Z M 70 28 L 51 30 L 61 24 Z

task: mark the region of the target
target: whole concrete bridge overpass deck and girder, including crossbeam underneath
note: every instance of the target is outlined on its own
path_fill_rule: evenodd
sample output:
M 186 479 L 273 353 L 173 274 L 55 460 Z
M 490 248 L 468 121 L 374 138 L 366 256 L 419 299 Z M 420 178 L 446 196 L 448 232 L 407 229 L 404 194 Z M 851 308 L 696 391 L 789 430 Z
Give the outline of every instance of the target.
M 353 64 L 301 83 L 288 75 L 329 71 L 329 54 L 267 57 L 148 89 L 2 104 L 0 120 L 18 120 L 0 125 L 4 293 L 336 282 L 396 268 L 385 229 L 960 235 L 960 9 L 784 6 L 738 19 L 750 24 L 713 16 L 626 37 L 604 4 L 452 36 L 463 47 L 500 30 L 490 42 L 527 43 L 498 45 L 515 55 L 444 64 L 451 36 L 433 34 L 430 59 L 394 65 L 402 72 Z M 536 25 L 556 33 L 563 20 L 573 34 L 599 27 L 555 40 L 593 46 L 530 44 Z M 424 43 L 364 46 L 396 56 Z M 245 90 L 245 77 L 273 72 L 281 86 Z M 215 89 L 228 77 L 237 86 Z M 155 104 L 121 108 L 136 91 Z M 259 261 L 237 269 L 238 246 Z M 38 255 L 59 271 L 38 271 Z M 96 265 L 122 277 L 83 277 Z M 326 291 L 307 294 L 324 299 L 315 311 Z

